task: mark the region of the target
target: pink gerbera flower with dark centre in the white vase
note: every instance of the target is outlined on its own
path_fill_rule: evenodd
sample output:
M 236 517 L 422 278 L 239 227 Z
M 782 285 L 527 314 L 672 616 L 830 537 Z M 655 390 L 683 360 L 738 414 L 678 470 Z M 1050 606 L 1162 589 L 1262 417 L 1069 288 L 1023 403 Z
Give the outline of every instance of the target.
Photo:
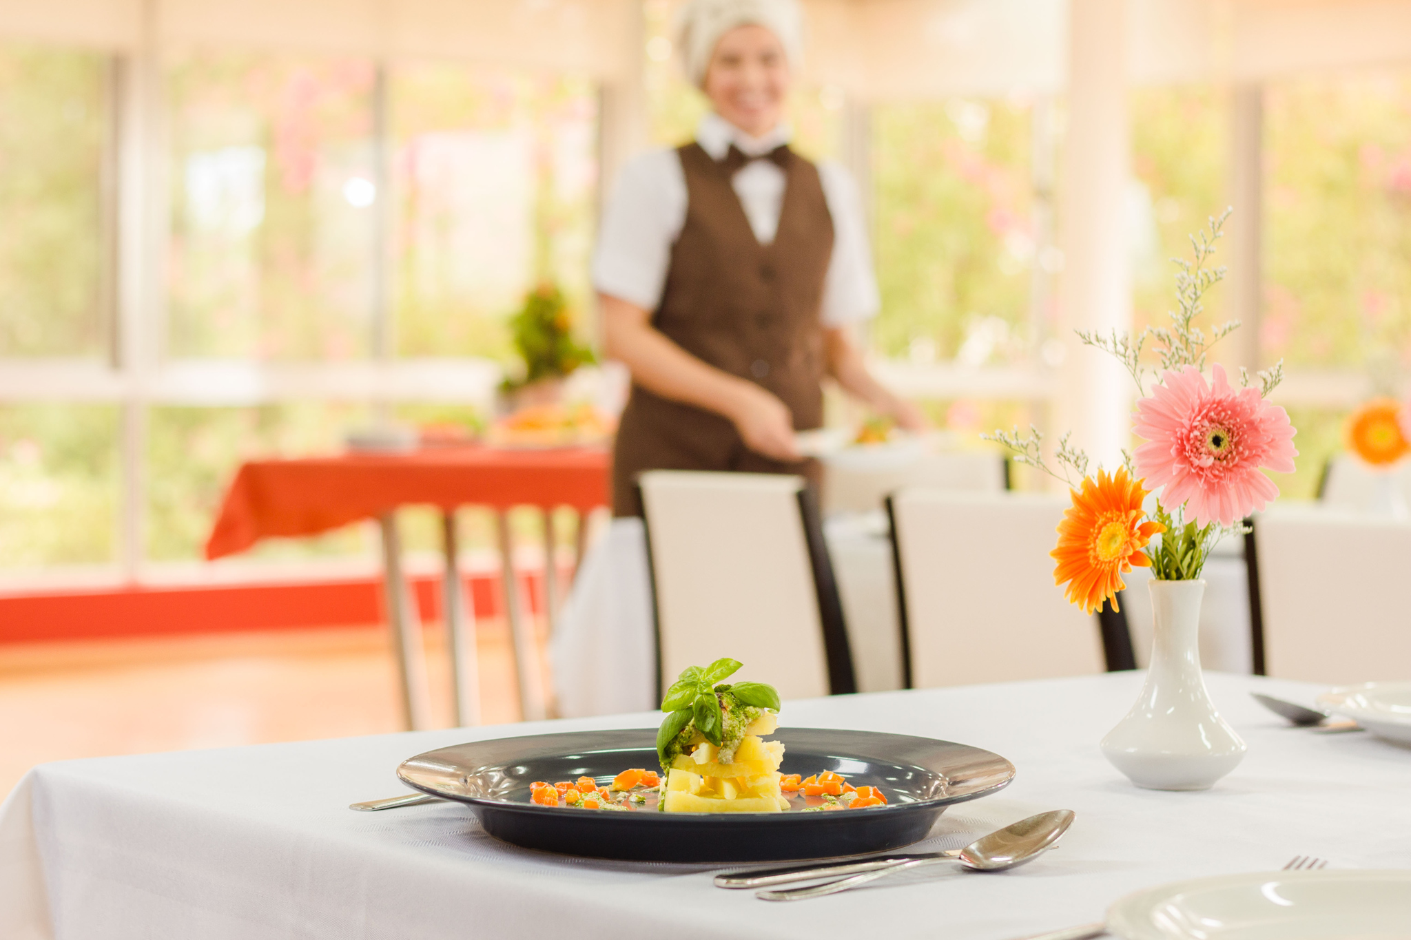
M 1137 402 L 1136 433 L 1150 441 L 1136 451 L 1136 475 L 1161 486 L 1161 505 L 1185 503 L 1197 526 L 1233 526 L 1278 496 L 1260 468 L 1294 472 L 1294 427 L 1288 412 L 1259 389 L 1233 389 L 1216 365 L 1215 382 L 1194 366 L 1167 372 Z

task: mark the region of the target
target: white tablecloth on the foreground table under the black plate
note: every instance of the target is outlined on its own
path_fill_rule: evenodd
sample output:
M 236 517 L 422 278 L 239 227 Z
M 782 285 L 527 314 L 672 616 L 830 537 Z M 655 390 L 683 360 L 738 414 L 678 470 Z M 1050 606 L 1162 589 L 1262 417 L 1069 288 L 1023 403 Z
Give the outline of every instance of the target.
M 700 867 L 519 850 L 450 803 L 346 809 L 396 793 L 396 764 L 428 748 L 658 717 L 636 715 L 38 767 L 0 809 L 0 937 L 1007 940 L 1096 920 L 1137 888 L 1273 870 L 1295 854 L 1411 867 L 1411 751 L 1291 729 L 1247 696 L 1264 688 L 1308 698 L 1312 686 L 1211 675 L 1216 705 L 1249 741 L 1245 762 L 1205 793 L 1136 789 L 1098 741 L 1140 681 L 1112 674 L 786 703 L 786 724 L 924 734 L 1010 758 L 1016 781 L 954 808 L 928 840 L 952 847 L 1040 809 L 1077 812 L 1057 851 L 1006 874 L 930 868 L 775 905 L 714 888 Z

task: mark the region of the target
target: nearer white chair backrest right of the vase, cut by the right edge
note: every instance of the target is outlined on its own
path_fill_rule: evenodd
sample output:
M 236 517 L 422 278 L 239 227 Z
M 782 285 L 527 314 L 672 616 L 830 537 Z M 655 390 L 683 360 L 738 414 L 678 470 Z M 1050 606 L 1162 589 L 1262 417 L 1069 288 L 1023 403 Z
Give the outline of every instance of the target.
M 1411 679 L 1411 523 L 1324 507 L 1254 517 L 1256 665 L 1281 679 Z M 1257 669 L 1256 669 L 1257 671 Z

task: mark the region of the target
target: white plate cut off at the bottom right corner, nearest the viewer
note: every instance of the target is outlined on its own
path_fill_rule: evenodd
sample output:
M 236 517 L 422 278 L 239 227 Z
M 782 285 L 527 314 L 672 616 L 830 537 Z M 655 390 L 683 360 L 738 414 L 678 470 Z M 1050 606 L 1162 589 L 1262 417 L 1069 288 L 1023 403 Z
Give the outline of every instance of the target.
M 1411 871 L 1273 871 L 1178 881 L 1108 910 L 1126 940 L 1405 940 Z

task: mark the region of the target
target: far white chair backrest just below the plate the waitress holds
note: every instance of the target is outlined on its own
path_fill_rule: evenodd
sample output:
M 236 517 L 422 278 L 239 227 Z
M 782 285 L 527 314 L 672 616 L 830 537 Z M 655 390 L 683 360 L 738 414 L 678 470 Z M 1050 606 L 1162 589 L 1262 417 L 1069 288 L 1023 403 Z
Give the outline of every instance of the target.
M 914 454 L 897 462 L 824 459 L 823 509 L 834 513 L 876 510 L 888 493 L 907 486 L 998 493 L 1009 489 L 1009 462 L 992 451 Z

